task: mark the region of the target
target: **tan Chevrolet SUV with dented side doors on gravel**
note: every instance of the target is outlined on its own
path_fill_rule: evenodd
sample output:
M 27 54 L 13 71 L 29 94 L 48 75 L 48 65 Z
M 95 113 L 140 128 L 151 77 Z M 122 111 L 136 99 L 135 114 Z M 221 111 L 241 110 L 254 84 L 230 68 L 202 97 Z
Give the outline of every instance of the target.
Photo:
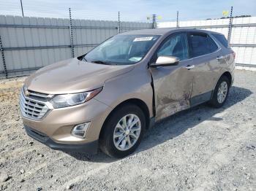
M 53 149 L 125 157 L 154 122 L 208 102 L 222 106 L 235 53 L 225 36 L 196 29 L 130 31 L 26 79 L 26 133 Z

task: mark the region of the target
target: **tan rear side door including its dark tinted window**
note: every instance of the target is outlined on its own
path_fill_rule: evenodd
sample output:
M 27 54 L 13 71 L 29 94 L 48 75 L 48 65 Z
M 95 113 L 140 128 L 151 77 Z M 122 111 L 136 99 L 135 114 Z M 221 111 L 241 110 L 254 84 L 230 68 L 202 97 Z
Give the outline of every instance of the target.
M 189 55 L 194 69 L 193 90 L 190 99 L 191 106 L 201 104 L 211 99 L 215 82 L 219 77 L 222 62 L 221 49 L 209 34 L 203 32 L 188 32 Z

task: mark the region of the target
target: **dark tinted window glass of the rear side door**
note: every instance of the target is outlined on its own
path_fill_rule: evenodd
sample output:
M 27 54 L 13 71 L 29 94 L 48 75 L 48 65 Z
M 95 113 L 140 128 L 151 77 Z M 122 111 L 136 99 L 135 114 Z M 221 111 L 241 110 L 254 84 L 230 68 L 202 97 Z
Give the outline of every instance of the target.
M 189 33 L 189 44 L 192 57 L 207 55 L 218 49 L 214 40 L 208 34 L 203 33 Z

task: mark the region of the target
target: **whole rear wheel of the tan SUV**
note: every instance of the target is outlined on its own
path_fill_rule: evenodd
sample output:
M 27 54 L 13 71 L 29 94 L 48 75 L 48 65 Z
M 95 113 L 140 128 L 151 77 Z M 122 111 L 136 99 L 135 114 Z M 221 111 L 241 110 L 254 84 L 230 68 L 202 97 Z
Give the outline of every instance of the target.
M 225 104 L 227 95 L 230 90 L 230 81 L 226 76 L 222 76 L 214 89 L 214 94 L 209 104 L 213 107 L 219 108 Z

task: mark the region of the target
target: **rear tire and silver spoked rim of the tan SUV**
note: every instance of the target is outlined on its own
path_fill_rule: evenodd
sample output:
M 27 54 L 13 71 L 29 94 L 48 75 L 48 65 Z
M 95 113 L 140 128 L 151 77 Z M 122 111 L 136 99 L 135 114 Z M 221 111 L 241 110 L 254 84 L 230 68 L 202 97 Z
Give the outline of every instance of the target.
M 227 85 L 227 91 L 225 93 L 225 98 L 223 98 L 222 96 L 222 99 L 220 98 L 220 101 L 218 99 L 218 93 L 219 93 L 219 88 L 222 88 L 222 85 Z M 212 107 L 215 107 L 215 108 L 219 108 L 219 107 L 222 107 L 225 102 L 227 101 L 227 96 L 228 96 L 228 93 L 230 91 L 230 80 L 226 77 L 226 76 L 222 76 L 220 77 L 219 81 L 217 82 L 217 85 L 214 89 L 214 93 L 212 95 L 212 98 L 211 98 L 211 101 L 209 101 L 209 105 L 212 106 Z M 223 93 L 225 91 L 222 91 Z

